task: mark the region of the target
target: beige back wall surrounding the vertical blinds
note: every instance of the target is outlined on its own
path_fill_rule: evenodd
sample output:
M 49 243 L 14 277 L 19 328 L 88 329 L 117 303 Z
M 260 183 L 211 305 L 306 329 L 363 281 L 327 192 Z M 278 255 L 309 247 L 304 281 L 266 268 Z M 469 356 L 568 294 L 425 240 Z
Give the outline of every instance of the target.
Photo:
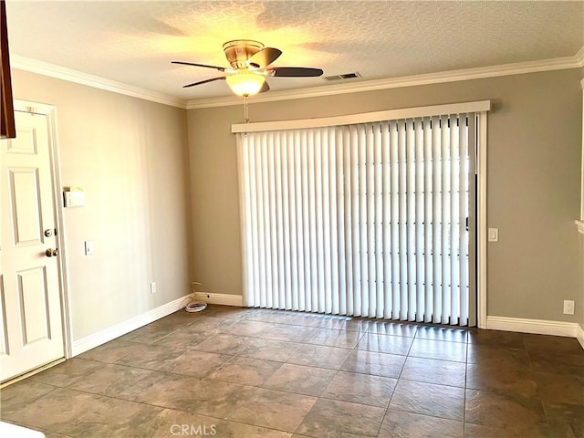
M 488 117 L 489 315 L 581 321 L 562 314 L 579 292 L 581 68 L 250 105 L 252 121 L 326 117 L 491 99 Z M 276 80 L 276 79 L 272 79 Z M 188 111 L 193 280 L 240 295 L 235 137 L 243 107 Z

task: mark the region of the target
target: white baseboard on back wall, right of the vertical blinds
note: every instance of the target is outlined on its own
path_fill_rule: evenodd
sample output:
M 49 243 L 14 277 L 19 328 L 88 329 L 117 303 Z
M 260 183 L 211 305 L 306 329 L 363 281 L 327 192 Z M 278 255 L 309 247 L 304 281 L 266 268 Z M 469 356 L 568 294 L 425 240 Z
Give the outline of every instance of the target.
M 548 321 L 545 319 L 487 317 L 486 328 L 489 330 L 516 331 L 537 335 L 565 336 L 578 338 L 580 325 L 577 322 Z

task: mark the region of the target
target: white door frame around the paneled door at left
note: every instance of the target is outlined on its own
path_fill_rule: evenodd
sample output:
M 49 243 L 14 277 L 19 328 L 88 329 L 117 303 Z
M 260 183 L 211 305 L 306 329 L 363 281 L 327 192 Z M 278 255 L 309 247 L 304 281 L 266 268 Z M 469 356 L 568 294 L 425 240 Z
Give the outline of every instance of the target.
M 63 202 L 61 195 L 61 173 L 58 155 L 57 137 L 57 108 L 44 103 L 30 102 L 27 100 L 15 99 L 15 111 L 23 111 L 47 116 L 48 130 L 48 153 L 50 157 L 50 173 L 53 194 L 53 207 L 56 216 L 57 247 L 58 247 L 58 282 L 61 302 L 61 315 L 63 325 L 63 350 L 65 359 L 72 357 L 72 337 L 70 304 L 68 299 L 68 276 L 67 276 L 67 256 L 65 251 L 65 223 L 63 221 Z

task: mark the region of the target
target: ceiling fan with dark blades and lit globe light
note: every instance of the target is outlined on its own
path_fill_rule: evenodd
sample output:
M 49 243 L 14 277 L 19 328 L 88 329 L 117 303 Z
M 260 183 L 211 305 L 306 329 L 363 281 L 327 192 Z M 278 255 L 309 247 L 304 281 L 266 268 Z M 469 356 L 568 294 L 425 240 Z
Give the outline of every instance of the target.
M 172 64 L 214 68 L 228 74 L 228 76 L 193 82 L 183 86 L 183 88 L 194 87 L 195 85 L 202 85 L 215 80 L 225 80 L 235 94 L 247 97 L 270 89 L 266 82 L 266 77 L 308 78 L 318 77 L 323 73 L 320 68 L 272 67 L 272 63 L 282 55 L 282 51 L 274 47 L 264 47 L 262 43 L 250 39 L 228 41 L 223 45 L 223 50 L 231 68 L 172 61 Z

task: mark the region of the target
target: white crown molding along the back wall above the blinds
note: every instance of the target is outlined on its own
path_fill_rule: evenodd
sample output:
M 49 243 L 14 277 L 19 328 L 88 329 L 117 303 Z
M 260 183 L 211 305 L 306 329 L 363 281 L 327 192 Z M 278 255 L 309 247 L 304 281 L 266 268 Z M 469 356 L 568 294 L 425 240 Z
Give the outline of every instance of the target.
M 584 47 L 573 57 L 556 57 L 539 61 L 516 62 L 499 66 L 464 68 L 460 70 L 428 73 L 423 75 L 401 76 L 399 78 L 384 78 L 363 80 L 349 84 L 336 84 L 310 89 L 288 89 L 283 91 L 271 91 L 269 94 L 254 96 L 249 103 L 273 102 L 276 100 L 317 98 L 322 96 L 334 96 L 338 94 L 358 93 L 362 91 L 374 91 L 379 89 L 398 89 L 403 87 L 415 87 L 421 85 L 441 84 L 459 80 L 471 80 L 482 78 L 496 78 L 501 76 L 522 75 L 541 71 L 562 70 L 568 68 L 584 67 Z M 197 110 L 211 107 L 225 107 L 241 104 L 241 98 L 213 98 L 194 99 L 187 102 L 187 110 Z

